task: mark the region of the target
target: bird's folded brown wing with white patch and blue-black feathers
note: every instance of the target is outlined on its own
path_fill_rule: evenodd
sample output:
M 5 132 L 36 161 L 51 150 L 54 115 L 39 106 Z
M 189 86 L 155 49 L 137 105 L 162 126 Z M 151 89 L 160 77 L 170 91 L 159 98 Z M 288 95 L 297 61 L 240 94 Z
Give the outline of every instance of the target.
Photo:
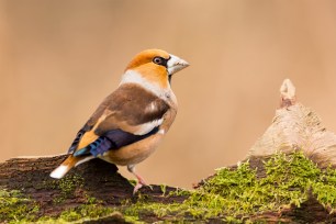
M 110 94 L 78 132 L 69 153 L 97 156 L 146 138 L 158 131 L 169 105 L 138 85 Z

